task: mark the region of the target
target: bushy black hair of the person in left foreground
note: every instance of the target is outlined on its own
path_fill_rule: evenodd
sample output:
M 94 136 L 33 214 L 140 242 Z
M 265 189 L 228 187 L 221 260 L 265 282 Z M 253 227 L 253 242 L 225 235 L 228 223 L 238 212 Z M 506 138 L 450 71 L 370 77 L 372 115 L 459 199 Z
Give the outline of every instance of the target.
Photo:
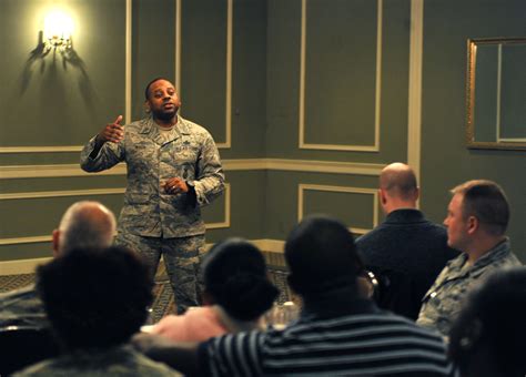
M 53 332 L 68 349 L 111 347 L 148 316 L 153 282 L 132 251 L 73 248 L 37 269 L 37 288 Z

